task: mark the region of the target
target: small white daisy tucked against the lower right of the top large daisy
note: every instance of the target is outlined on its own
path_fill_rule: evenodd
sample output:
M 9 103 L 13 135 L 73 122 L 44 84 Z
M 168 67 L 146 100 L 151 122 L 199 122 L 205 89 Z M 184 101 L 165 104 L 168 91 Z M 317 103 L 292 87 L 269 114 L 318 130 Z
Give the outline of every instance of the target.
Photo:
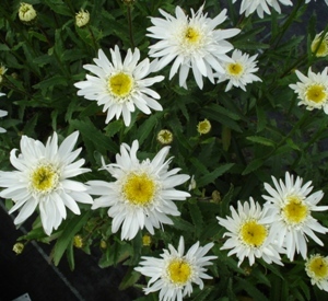
M 249 57 L 247 54 L 243 54 L 241 50 L 235 49 L 232 55 L 233 62 L 225 62 L 224 74 L 219 74 L 219 82 L 229 80 L 225 88 L 225 92 L 233 85 L 246 91 L 245 85 L 254 81 L 261 81 L 260 78 L 253 74 L 258 71 L 257 61 L 255 60 L 257 55 Z

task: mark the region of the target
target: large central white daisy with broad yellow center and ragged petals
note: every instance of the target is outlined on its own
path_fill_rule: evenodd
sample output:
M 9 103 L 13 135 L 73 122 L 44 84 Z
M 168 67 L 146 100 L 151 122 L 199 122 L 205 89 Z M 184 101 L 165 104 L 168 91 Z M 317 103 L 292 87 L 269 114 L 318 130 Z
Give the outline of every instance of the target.
M 109 207 L 113 218 L 112 231 L 121 225 L 121 240 L 132 240 L 140 229 L 154 234 L 154 228 L 162 223 L 173 224 L 168 216 L 179 216 L 172 200 L 185 200 L 190 195 L 175 189 L 185 183 L 189 175 L 177 174 L 179 169 L 168 171 L 172 158 L 165 161 L 169 147 L 164 147 L 151 161 L 139 161 L 138 140 L 132 147 L 122 143 L 116 163 L 104 165 L 104 170 L 116 178 L 115 182 L 90 181 L 91 194 L 101 196 L 94 200 L 92 209 Z

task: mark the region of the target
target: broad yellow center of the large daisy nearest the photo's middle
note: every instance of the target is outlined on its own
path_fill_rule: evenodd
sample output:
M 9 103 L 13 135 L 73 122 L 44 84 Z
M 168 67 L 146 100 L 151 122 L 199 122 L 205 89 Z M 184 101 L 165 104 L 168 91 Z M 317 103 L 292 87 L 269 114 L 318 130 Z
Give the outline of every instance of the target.
M 122 187 L 126 199 L 133 205 L 145 206 L 154 199 L 155 182 L 148 174 L 130 174 Z

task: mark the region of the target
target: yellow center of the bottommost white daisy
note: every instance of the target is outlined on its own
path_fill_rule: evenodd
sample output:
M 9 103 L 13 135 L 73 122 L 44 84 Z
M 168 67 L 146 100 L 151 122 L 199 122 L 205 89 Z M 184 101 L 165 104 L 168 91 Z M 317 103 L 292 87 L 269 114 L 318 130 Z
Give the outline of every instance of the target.
M 168 277 L 175 285 L 185 285 L 191 277 L 191 266 L 184 259 L 174 259 L 167 267 Z

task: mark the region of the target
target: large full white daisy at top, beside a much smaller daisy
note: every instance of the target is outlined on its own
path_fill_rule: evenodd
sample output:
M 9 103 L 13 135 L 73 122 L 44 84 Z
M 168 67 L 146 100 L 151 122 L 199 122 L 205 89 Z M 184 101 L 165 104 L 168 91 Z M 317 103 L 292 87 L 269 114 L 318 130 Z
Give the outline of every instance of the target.
M 214 30 L 226 20 L 226 9 L 214 19 L 202 12 L 203 5 L 191 16 L 185 14 L 180 7 L 176 7 L 176 18 L 160 10 L 165 18 L 151 18 L 154 26 L 148 28 L 148 36 L 160 39 L 150 46 L 150 56 L 160 58 L 159 69 L 174 60 L 169 79 L 179 69 L 179 85 L 187 88 L 186 80 L 189 69 L 192 69 L 195 80 L 202 89 L 202 77 L 214 83 L 213 70 L 224 73 L 223 61 L 231 61 L 225 54 L 233 49 L 233 45 L 225 38 L 237 35 L 241 30 Z

